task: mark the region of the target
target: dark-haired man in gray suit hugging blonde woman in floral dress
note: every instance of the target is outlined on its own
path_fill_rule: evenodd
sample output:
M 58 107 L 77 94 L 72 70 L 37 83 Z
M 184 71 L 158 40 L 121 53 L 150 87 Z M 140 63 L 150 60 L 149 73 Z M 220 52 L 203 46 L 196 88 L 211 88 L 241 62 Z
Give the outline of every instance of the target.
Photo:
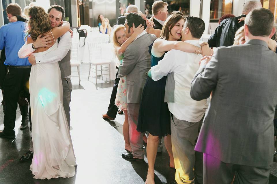
M 133 23 L 135 27 L 144 23 L 143 18 L 137 13 L 130 13 L 126 16 L 125 32 L 130 37 L 133 34 Z M 148 46 L 156 39 L 153 34 L 142 32 L 126 48 L 122 64 L 118 67 L 118 78 L 126 76 L 127 90 L 127 112 L 130 134 L 130 145 L 132 152 L 123 153 L 126 160 L 144 160 L 143 133 L 136 130 L 139 116 L 139 105 L 143 87 L 146 81 L 146 72 L 151 68 Z

